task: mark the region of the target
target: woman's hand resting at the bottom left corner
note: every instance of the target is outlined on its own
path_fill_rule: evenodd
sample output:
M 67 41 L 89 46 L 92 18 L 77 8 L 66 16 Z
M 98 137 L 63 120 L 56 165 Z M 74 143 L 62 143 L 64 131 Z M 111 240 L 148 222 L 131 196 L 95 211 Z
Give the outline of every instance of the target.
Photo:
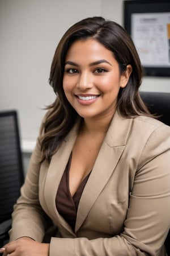
M 48 256 L 49 243 L 40 243 L 29 237 L 21 237 L 18 240 L 7 243 L 0 249 L 3 256 Z

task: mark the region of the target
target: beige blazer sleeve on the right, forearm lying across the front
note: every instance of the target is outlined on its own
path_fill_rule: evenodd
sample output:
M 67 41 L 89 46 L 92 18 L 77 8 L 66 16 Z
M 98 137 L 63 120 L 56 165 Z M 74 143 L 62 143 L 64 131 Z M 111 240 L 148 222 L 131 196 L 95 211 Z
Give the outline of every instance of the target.
M 170 129 L 160 126 L 143 148 L 129 195 L 124 232 L 111 238 L 52 238 L 50 256 L 160 256 L 170 226 Z

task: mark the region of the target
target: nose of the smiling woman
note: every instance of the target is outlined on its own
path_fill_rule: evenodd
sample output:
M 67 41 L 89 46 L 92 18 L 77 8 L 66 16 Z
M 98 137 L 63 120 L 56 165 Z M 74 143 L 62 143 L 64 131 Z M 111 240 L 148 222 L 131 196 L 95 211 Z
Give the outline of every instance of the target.
M 76 87 L 81 90 L 86 90 L 92 87 L 92 77 L 88 71 L 80 73 Z

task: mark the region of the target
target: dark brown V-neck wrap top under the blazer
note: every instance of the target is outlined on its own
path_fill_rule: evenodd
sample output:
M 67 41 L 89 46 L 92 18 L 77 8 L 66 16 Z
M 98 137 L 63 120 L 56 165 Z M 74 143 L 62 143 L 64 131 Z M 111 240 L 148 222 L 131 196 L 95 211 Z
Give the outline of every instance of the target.
M 79 185 L 79 188 L 75 192 L 74 196 L 71 196 L 70 188 L 69 188 L 69 171 L 70 171 L 70 164 L 71 164 L 71 156 L 67 163 L 65 172 L 63 173 L 62 179 L 60 181 L 57 196 L 56 196 L 56 208 L 61 214 L 61 216 L 69 223 L 71 228 L 75 229 L 75 222 L 76 222 L 76 213 L 80 201 L 80 197 L 82 196 L 83 189 L 87 183 L 88 174 L 83 180 L 82 183 Z

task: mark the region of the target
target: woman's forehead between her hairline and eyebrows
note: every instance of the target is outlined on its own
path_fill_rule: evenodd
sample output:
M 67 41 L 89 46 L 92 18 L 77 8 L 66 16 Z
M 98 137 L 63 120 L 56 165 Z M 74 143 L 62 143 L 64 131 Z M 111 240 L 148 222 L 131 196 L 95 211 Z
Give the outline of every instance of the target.
M 95 39 L 78 40 L 74 42 L 66 54 L 66 60 L 99 60 L 114 59 L 112 51 L 109 51 L 103 44 Z

